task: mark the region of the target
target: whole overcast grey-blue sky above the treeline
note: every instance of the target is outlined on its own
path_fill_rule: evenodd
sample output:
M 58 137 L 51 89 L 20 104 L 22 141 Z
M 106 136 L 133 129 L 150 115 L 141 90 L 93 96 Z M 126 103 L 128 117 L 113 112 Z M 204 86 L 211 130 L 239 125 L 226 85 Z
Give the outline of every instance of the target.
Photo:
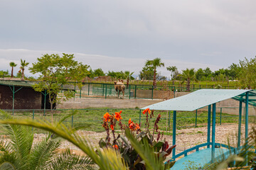
M 256 55 L 255 0 L 1 0 L 0 68 L 74 54 L 103 71 L 138 75 L 146 60 L 217 70 Z M 18 67 L 14 72 L 18 72 Z M 25 74 L 32 74 L 25 71 Z

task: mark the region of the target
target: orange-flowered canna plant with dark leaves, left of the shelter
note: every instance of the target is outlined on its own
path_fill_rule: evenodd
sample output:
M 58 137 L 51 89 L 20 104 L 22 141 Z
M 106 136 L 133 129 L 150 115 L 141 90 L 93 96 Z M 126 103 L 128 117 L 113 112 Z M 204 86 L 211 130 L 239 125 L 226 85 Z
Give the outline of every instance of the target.
M 159 141 L 163 137 L 158 126 L 161 115 L 159 114 L 154 121 L 154 130 L 151 134 L 149 131 L 149 117 L 152 118 L 154 112 L 151 112 L 149 116 L 150 111 L 143 111 L 143 113 L 146 113 L 146 130 L 144 131 L 141 131 L 140 125 L 133 123 L 131 119 L 129 119 L 128 125 L 122 124 L 122 121 L 117 119 L 121 113 L 122 111 L 116 112 L 115 115 L 109 113 L 104 115 L 102 126 L 107 132 L 107 137 L 105 141 L 100 140 L 100 147 L 115 147 L 118 149 L 129 169 L 151 169 L 151 167 L 153 169 L 170 169 L 175 162 L 164 164 L 164 160 L 171 154 L 176 145 L 169 147 L 167 141 Z M 115 131 L 117 121 L 119 121 L 118 125 L 121 130 L 125 130 L 125 136 L 117 134 Z M 110 143 L 110 130 L 113 134 L 112 143 Z M 154 138 L 154 132 L 157 132 L 156 139 Z

